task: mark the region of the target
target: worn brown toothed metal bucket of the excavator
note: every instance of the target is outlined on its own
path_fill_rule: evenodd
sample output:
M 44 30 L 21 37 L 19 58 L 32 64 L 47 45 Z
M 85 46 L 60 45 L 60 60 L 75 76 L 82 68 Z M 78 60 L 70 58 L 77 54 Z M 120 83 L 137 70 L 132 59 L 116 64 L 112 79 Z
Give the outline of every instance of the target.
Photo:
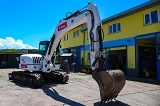
M 115 99 L 125 85 L 125 75 L 118 69 L 98 71 L 92 77 L 99 85 L 102 103 Z

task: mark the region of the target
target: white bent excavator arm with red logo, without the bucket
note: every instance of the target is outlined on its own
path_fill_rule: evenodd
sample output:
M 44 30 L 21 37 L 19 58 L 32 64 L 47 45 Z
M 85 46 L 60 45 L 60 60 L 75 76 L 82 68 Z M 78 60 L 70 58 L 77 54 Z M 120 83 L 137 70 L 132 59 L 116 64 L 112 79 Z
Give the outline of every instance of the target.
M 98 61 L 95 61 L 102 51 L 102 34 L 101 34 L 101 19 L 96 5 L 88 3 L 88 5 L 71 14 L 70 16 L 60 20 L 54 34 L 50 40 L 48 50 L 43 60 L 43 72 L 50 72 L 52 70 L 51 57 L 53 56 L 61 38 L 69 30 L 87 22 L 88 38 L 90 44 L 90 59 L 92 70 L 98 66 Z

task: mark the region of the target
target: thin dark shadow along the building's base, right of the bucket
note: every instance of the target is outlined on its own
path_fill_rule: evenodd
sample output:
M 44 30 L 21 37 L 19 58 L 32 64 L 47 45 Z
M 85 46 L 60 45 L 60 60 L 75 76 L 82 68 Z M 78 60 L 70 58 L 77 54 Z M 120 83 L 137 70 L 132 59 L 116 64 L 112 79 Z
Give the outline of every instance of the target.
M 143 83 L 148 83 L 148 84 L 160 85 L 160 81 L 154 80 L 154 79 L 127 77 L 126 80 L 143 82 Z

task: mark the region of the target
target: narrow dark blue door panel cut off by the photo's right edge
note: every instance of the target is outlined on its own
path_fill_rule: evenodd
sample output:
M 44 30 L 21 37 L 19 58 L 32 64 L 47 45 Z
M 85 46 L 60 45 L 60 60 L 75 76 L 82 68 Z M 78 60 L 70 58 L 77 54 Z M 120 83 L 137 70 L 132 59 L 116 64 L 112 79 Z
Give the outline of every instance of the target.
M 157 35 L 157 79 L 160 80 L 160 34 Z

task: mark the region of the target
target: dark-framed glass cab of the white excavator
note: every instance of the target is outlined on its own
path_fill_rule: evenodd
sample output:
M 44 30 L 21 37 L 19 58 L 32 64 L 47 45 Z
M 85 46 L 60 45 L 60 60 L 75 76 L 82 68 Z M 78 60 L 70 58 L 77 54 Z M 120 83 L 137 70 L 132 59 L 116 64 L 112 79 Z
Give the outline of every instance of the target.
M 41 41 L 39 43 L 39 54 L 46 55 L 48 49 L 49 41 Z

